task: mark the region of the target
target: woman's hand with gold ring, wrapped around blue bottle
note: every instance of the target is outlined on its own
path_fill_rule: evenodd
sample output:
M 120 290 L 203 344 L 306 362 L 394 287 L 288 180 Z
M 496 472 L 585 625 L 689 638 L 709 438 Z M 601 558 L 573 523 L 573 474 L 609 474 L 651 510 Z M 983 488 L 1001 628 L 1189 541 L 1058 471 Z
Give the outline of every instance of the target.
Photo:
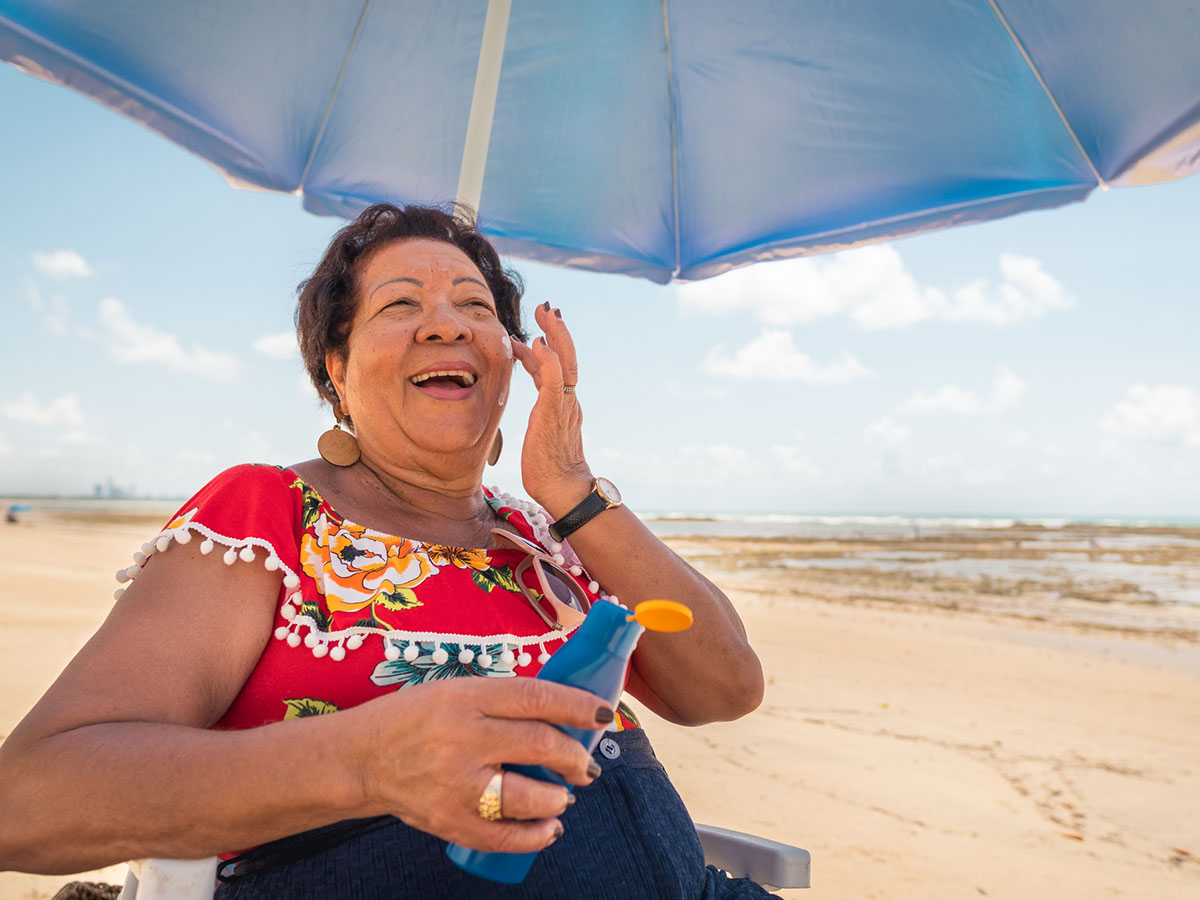
M 552 844 L 569 805 L 560 785 L 505 772 L 504 818 L 479 815 L 479 799 L 505 763 L 545 766 L 572 785 L 599 767 L 550 722 L 602 728 L 604 700 L 533 678 L 456 678 L 406 688 L 337 713 L 361 727 L 359 762 L 366 815 L 389 814 L 473 850 L 528 853 Z

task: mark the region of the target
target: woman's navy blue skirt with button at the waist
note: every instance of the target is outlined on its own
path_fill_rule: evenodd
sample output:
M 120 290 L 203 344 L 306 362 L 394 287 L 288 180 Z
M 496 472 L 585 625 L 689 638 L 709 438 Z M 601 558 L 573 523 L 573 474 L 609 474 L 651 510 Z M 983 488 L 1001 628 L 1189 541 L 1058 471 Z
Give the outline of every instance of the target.
M 641 730 L 612 732 L 595 754 L 604 774 L 577 787 L 564 833 L 521 884 L 458 869 L 446 844 L 398 818 L 338 822 L 272 841 L 222 864 L 215 900 L 402 900 L 403 898 L 594 898 L 760 900 L 748 878 L 706 868 L 688 810 Z M 610 758 L 614 756 L 616 758 Z

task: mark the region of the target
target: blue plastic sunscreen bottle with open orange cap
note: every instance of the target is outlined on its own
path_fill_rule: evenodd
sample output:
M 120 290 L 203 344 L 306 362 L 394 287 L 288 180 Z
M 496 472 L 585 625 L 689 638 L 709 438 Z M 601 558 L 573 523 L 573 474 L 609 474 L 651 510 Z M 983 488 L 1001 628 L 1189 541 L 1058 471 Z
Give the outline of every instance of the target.
M 691 624 L 691 616 L 685 607 L 665 600 L 650 600 L 641 604 L 636 614 L 641 617 L 642 607 L 650 605 L 656 605 L 656 611 L 670 605 L 673 616 L 686 618 L 686 624 L 683 624 L 683 628 Z M 678 612 L 679 610 L 682 613 Z M 679 625 L 672 624 L 656 626 L 654 622 L 658 618 L 643 620 L 647 620 L 647 624 L 655 630 L 679 630 Z M 547 660 L 538 673 L 538 678 L 571 688 L 582 688 L 616 706 L 625 685 L 625 667 L 629 665 L 629 658 L 634 654 L 637 638 L 644 630 L 641 624 L 634 620 L 629 610 L 604 601 L 594 604 L 583 624 Z M 557 727 L 583 744 L 588 752 L 595 750 L 596 744 L 600 743 L 600 736 L 604 734 L 604 728 L 586 731 L 564 725 Z M 509 772 L 517 772 L 541 781 L 565 785 L 568 790 L 571 790 L 571 786 L 559 778 L 558 773 L 542 766 L 506 766 L 505 768 Z M 524 881 L 529 866 L 538 857 L 536 853 L 485 853 L 457 844 L 446 847 L 446 856 L 460 869 L 505 884 L 517 884 Z

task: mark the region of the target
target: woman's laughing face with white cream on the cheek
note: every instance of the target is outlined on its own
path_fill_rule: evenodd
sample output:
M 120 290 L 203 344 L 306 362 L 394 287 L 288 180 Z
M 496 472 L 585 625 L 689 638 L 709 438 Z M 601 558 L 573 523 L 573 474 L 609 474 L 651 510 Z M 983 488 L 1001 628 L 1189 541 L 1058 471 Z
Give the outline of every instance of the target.
M 346 360 L 330 353 L 325 365 L 362 451 L 486 457 L 512 362 L 484 276 L 452 244 L 425 239 L 359 265 Z

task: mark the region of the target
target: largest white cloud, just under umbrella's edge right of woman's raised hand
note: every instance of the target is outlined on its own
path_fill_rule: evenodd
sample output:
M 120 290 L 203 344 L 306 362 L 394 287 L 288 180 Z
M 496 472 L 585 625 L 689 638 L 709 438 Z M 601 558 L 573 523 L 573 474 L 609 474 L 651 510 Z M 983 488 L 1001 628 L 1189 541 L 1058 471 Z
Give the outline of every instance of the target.
M 685 308 L 709 314 L 749 312 L 774 325 L 846 314 L 866 330 L 923 320 L 1013 325 L 1075 302 L 1032 257 L 1003 253 L 998 268 L 998 282 L 976 278 L 947 290 L 918 283 L 894 247 L 874 245 L 760 263 L 676 289 Z

